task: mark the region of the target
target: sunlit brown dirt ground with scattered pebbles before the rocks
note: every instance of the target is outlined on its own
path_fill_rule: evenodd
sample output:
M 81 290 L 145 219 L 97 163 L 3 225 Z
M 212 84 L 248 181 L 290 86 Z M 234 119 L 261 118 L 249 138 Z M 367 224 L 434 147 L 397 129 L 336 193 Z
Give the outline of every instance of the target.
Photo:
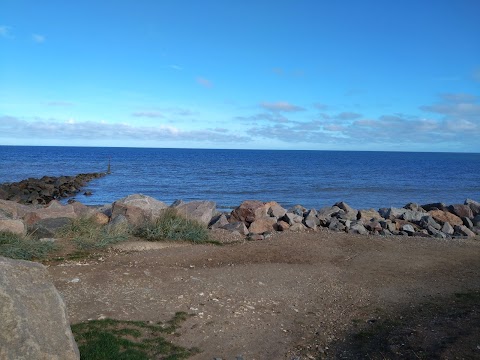
M 480 289 L 478 240 L 323 231 L 227 246 L 138 245 L 49 268 L 70 319 L 157 322 L 195 313 L 174 339 L 202 350 L 192 359 L 292 359 L 297 348 L 328 353 L 353 319 L 375 318 L 379 308 L 394 312 L 429 296 Z

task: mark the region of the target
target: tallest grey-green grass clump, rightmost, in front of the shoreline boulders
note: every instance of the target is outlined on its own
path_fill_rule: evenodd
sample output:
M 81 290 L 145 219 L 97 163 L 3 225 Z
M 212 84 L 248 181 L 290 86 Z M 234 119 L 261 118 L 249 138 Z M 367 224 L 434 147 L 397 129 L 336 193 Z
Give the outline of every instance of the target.
M 175 209 L 166 209 L 159 218 L 137 229 L 137 235 L 149 241 L 210 242 L 206 226 L 179 215 Z

